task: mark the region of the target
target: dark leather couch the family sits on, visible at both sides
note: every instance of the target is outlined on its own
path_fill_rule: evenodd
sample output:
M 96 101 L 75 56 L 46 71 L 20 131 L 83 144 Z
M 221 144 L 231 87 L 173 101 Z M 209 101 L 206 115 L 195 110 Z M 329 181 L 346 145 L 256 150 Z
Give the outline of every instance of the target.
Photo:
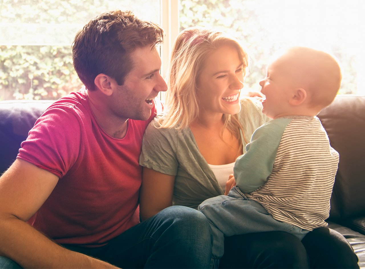
M 20 143 L 52 102 L 0 102 L 0 173 L 15 160 Z M 340 155 L 329 227 L 345 236 L 357 254 L 358 265 L 365 268 L 365 198 L 362 196 L 365 190 L 365 96 L 338 96 L 318 116 L 332 147 Z

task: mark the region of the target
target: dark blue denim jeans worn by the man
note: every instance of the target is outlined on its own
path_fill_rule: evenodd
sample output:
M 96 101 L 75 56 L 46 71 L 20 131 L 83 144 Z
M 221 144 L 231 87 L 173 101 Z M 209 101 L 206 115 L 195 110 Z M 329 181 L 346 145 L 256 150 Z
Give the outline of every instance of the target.
M 120 268 L 208 268 L 212 233 L 207 219 L 199 211 L 171 206 L 128 229 L 105 246 L 64 247 Z M 0 257 L 0 268 L 20 268 L 9 262 Z

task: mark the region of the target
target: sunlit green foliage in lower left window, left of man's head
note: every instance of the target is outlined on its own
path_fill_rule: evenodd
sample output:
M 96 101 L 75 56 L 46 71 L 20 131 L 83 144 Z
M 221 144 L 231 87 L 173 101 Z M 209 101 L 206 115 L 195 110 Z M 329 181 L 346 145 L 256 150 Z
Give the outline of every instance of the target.
M 55 100 L 81 86 L 70 46 L 0 46 L 3 99 Z

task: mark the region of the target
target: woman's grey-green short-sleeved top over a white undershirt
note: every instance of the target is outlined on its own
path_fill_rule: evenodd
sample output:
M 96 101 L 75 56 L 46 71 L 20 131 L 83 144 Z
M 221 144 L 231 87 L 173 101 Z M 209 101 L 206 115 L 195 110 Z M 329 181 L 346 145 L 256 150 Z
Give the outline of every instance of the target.
M 258 127 L 269 121 L 261 108 L 261 102 L 257 99 L 241 100 L 239 121 L 247 142 Z M 205 199 L 223 194 L 211 168 L 200 154 L 190 128 L 180 131 L 176 128 L 157 128 L 160 117 L 157 116 L 146 129 L 139 164 L 176 176 L 173 205 L 196 209 Z M 246 144 L 244 139 L 242 141 L 244 153 Z

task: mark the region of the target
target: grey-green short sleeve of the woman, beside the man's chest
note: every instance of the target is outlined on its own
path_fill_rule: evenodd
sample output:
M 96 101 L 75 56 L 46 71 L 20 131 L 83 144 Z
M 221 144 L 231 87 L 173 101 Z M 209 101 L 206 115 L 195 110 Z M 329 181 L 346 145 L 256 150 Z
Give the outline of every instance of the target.
M 153 119 L 146 128 L 139 164 L 163 174 L 176 175 L 178 168 L 176 130 L 158 128 L 158 118 Z

